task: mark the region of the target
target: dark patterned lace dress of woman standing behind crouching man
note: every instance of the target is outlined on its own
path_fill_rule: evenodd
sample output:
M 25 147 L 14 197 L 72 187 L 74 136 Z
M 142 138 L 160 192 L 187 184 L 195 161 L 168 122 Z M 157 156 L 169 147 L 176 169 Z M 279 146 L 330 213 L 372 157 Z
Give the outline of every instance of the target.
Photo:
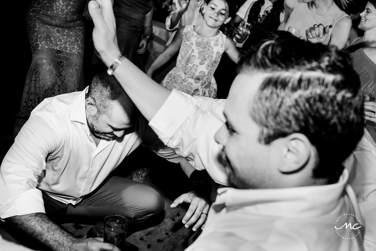
M 32 0 L 26 28 L 32 52 L 18 117 L 28 118 L 42 100 L 82 91 L 85 0 Z

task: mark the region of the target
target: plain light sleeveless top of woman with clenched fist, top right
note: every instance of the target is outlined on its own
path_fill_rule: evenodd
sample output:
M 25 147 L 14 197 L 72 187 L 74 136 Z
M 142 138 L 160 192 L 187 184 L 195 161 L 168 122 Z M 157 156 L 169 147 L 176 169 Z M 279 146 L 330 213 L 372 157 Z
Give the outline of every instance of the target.
M 332 25 L 334 27 L 337 21 L 343 17 L 349 17 L 349 15 L 347 15 L 344 11 L 339 11 L 324 17 L 316 15 L 309 10 L 307 3 L 297 0 L 293 13 L 291 13 L 290 17 L 288 18 L 283 30 L 288 30 L 288 27 L 295 28 L 299 31 L 299 34 L 296 34 L 296 36 L 300 39 L 307 40 L 305 32 L 309 27 L 320 23 L 323 24 L 324 27 L 328 25 Z M 324 45 L 329 44 L 332 30 L 333 28 L 329 29 L 329 36 L 323 43 Z

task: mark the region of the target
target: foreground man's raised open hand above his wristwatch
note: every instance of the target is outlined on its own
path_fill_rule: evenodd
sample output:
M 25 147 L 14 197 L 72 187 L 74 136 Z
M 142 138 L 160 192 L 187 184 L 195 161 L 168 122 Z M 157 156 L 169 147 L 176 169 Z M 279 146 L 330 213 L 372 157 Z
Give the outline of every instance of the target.
M 92 0 L 89 2 L 89 13 L 94 22 L 94 47 L 103 62 L 110 66 L 120 54 L 116 39 L 115 16 L 111 0 Z

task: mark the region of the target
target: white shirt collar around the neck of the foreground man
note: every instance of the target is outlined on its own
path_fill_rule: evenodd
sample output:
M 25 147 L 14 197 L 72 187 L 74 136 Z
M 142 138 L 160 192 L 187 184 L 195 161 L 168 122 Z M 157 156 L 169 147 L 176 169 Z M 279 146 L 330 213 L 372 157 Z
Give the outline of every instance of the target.
M 338 205 L 346 186 L 349 172 L 344 169 L 335 184 L 290 187 L 280 189 L 218 189 L 212 208 L 219 212 L 247 207 L 257 215 L 313 217 L 329 212 Z

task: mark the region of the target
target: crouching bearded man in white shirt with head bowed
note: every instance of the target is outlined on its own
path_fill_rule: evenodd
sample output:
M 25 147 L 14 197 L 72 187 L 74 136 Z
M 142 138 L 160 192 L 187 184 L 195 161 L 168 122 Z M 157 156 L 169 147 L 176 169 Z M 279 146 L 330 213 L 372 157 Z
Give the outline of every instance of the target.
M 53 250 L 111 247 L 92 238 L 74 238 L 52 220 L 118 214 L 132 224 L 161 212 L 164 199 L 152 187 L 108 177 L 141 144 L 172 162 L 181 159 L 140 118 L 114 76 L 100 73 L 82 92 L 45 99 L 2 162 L 0 217 Z

